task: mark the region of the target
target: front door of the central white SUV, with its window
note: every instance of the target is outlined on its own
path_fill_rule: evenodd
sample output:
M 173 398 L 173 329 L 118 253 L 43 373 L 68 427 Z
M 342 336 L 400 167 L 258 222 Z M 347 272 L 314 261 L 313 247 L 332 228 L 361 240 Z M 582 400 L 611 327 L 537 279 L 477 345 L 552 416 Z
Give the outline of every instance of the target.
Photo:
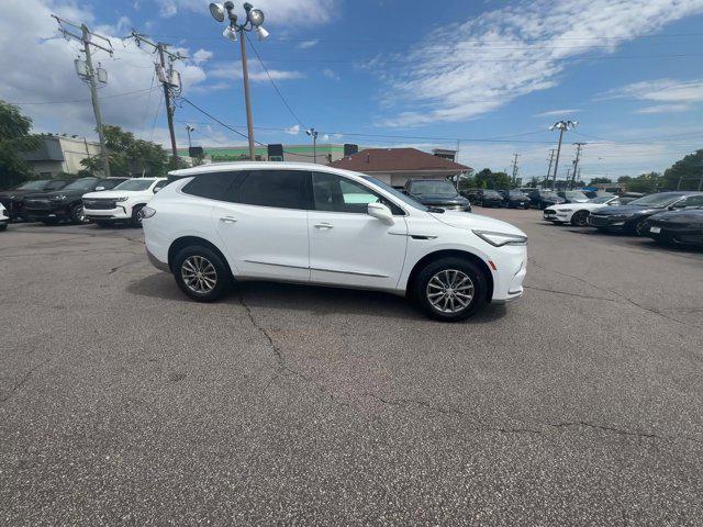
M 403 211 L 368 187 L 342 176 L 313 172 L 309 212 L 311 281 L 394 289 L 408 244 Z M 371 217 L 367 205 L 384 202 L 394 225 Z

